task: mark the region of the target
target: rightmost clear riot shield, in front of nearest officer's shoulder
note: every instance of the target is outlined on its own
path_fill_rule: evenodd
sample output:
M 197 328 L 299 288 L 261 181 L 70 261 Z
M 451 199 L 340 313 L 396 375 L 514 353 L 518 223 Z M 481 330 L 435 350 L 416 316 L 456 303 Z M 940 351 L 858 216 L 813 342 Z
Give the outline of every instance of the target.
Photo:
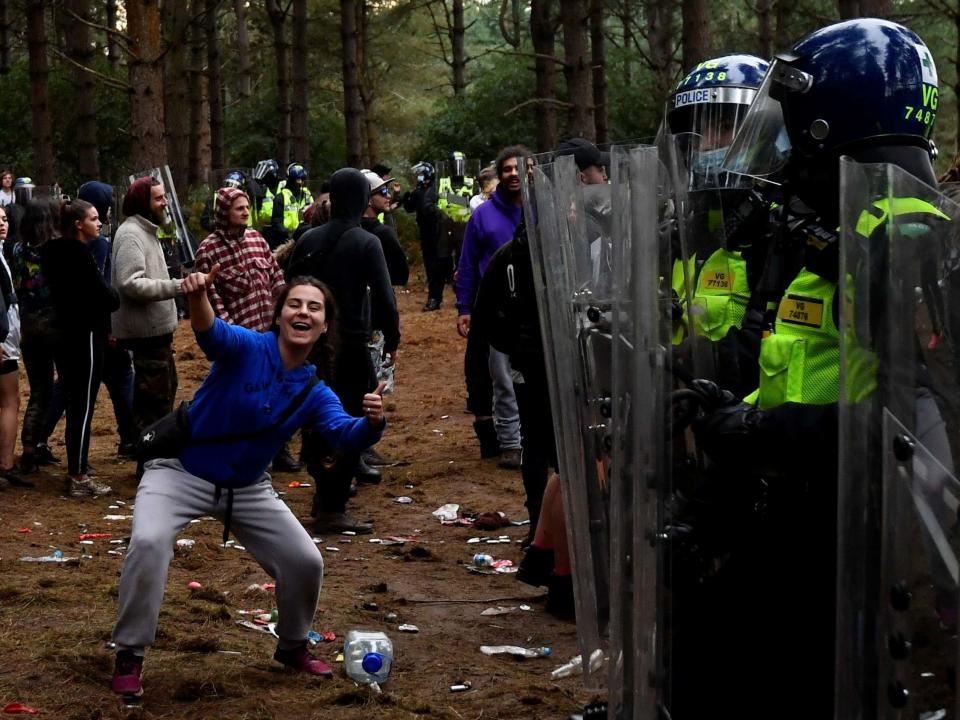
M 960 718 L 960 364 L 933 310 L 960 206 L 849 159 L 840 195 L 835 717 Z

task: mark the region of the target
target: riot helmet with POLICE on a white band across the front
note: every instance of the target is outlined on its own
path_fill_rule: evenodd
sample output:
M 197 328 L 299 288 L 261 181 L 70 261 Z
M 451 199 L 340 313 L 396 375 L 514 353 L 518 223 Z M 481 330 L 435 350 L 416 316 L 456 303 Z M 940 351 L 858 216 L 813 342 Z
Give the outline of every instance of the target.
M 741 183 L 720 172 L 767 62 L 753 55 L 724 55 L 694 66 L 677 83 L 667 101 L 661 138 L 676 138 L 677 150 L 689 175 L 691 190 Z

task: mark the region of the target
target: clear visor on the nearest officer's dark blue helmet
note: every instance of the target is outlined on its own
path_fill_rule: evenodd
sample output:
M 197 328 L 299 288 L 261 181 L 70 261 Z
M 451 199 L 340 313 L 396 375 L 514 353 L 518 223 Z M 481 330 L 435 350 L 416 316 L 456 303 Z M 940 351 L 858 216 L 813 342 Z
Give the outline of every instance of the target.
M 789 63 L 780 59 L 770 65 L 724 158 L 724 171 L 780 184 L 781 173 L 790 157 L 790 138 L 783 120 L 783 108 L 775 96 L 785 89 L 780 87 L 782 80 L 785 77 L 791 80 L 795 72 Z

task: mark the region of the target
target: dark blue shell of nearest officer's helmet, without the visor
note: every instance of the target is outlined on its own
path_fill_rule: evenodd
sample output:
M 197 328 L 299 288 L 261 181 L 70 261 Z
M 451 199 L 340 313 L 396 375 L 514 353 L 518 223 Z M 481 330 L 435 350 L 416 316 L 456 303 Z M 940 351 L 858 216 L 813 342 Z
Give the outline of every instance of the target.
M 797 77 L 775 90 L 790 143 L 803 154 L 877 139 L 930 148 L 937 68 L 912 30 L 887 20 L 849 20 L 808 35 L 785 60 Z

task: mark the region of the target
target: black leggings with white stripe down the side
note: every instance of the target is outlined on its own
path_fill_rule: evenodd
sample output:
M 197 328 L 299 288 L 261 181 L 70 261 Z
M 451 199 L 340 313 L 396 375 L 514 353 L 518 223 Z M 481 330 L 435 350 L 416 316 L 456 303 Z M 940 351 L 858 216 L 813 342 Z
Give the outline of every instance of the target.
M 70 333 L 57 344 L 57 374 L 67 406 L 67 473 L 87 472 L 90 423 L 100 391 L 105 338 L 93 332 Z

